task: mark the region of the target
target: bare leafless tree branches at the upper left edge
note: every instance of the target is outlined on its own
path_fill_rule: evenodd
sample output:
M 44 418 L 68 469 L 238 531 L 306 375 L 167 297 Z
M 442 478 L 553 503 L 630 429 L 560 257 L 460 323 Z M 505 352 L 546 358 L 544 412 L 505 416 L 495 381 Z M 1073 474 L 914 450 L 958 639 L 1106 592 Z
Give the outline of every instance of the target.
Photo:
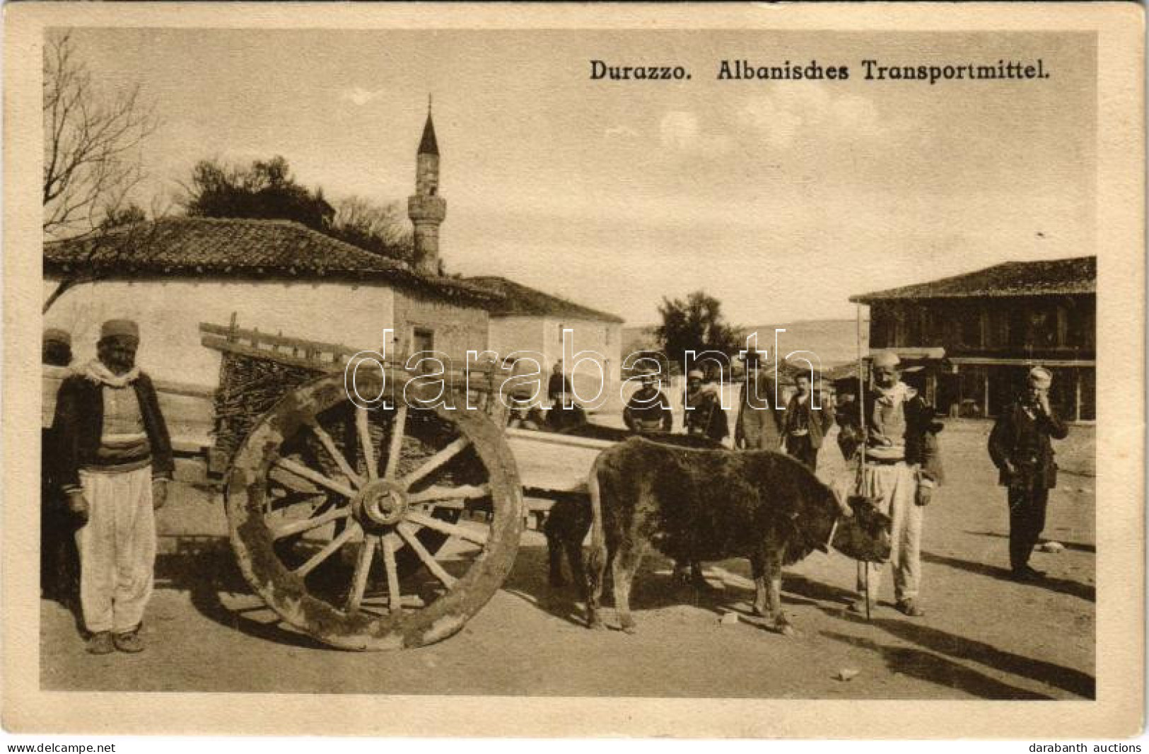
M 99 87 L 68 33 L 44 47 L 44 232 L 91 231 L 144 177 L 140 146 L 159 125 L 139 85 Z

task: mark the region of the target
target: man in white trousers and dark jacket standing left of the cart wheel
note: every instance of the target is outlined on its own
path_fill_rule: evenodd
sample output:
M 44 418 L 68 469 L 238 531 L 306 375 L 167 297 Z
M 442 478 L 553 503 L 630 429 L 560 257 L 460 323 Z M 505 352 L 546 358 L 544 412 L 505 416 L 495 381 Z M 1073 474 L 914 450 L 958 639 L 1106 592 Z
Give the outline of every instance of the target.
M 60 386 L 53 428 L 56 470 L 76 533 L 80 607 L 92 654 L 140 652 L 152 597 L 155 517 L 167 499 L 171 440 L 151 378 L 136 367 L 139 328 L 109 320 L 98 359 Z

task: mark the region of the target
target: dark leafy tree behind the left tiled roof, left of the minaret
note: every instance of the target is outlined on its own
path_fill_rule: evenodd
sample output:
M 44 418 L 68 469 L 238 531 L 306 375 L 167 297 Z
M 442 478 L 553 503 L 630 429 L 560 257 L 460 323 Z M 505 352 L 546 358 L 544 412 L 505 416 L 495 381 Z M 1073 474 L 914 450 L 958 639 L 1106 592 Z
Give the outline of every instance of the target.
M 326 231 L 336 216 L 323 190 L 311 191 L 295 183 L 282 156 L 256 160 L 249 167 L 201 160 L 192 169 L 192 182 L 185 191 L 184 209 L 192 217 L 293 220 Z

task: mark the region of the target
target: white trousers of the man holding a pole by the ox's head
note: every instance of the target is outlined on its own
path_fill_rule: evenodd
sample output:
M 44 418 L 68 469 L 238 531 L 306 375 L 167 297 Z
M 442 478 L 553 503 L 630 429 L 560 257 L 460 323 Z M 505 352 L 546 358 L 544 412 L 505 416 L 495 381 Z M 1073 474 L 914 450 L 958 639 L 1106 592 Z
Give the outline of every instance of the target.
M 923 510 L 915 503 L 918 469 L 908 463 L 867 463 L 862 479 L 862 494 L 874 499 L 878 509 L 890 517 L 889 564 L 894 569 L 894 599 L 918 595 L 921 578 Z M 865 587 L 865 568 L 870 569 L 870 599 L 876 599 L 881 585 L 885 563 L 858 562 L 858 592 Z

